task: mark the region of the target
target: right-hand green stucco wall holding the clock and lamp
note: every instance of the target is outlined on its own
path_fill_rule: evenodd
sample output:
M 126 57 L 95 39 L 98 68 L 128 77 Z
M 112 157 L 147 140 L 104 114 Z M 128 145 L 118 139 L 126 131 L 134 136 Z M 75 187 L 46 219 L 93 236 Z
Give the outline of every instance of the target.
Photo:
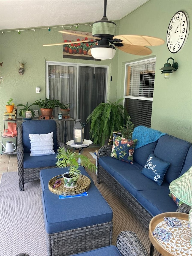
M 120 20 L 119 26 L 120 35 L 148 35 L 164 39 L 164 45 L 149 47 L 153 51 L 151 56 L 157 58 L 151 128 L 190 142 L 192 140 L 191 6 L 192 1 L 152 0 Z M 167 28 L 173 15 L 180 10 L 187 12 L 189 16 L 190 31 L 184 47 L 178 53 L 173 54 L 167 48 Z M 171 74 L 170 79 L 166 80 L 159 69 L 170 57 L 179 63 L 179 68 Z M 125 63 L 140 58 L 141 56 L 137 58 L 119 51 L 117 98 L 123 95 Z M 172 60 L 170 63 L 173 64 Z

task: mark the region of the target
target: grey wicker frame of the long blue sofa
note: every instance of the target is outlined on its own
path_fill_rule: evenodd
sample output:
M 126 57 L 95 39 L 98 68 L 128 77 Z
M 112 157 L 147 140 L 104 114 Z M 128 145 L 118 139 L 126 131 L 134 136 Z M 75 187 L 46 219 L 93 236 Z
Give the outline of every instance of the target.
M 100 164 L 99 158 L 102 156 L 109 156 L 111 154 L 112 145 L 102 146 L 97 155 L 97 182 L 99 184 L 100 179 L 105 182 L 110 188 L 115 191 L 116 194 L 126 203 L 126 205 L 134 212 L 136 217 L 149 229 L 149 223 L 152 216 L 137 200 L 127 191 L 113 176 L 111 176 Z M 190 207 L 186 204 L 182 204 L 177 212 L 189 212 Z

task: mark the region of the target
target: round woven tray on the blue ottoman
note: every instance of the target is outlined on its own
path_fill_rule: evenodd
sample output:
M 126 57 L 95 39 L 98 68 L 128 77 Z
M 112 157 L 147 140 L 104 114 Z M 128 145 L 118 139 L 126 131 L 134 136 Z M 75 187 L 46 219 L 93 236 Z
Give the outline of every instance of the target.
M 58 178 L 57 177 L 60 177 Z M 58 188 L 53 188 L 53 185 L 55 183 L 56 180 L 61 180 L 61 185 Z M 85 191 L 87 191 L 90 188 L 91 185 L 91 181 L 90 179 L 85 176 L 85 175 L 80 175 L 80 178 L 78 179 L 78 181 L 76 182 L 77 186 L 75 188 L 65 188 L 64 187 L 64 180 L 61 175 L 55 176 L 52 179 L 49 180 L 49 190 L 54 193 L 54 194 L 58 194 L 58 195 L 76 195 L 76 194 L 81 194 Z

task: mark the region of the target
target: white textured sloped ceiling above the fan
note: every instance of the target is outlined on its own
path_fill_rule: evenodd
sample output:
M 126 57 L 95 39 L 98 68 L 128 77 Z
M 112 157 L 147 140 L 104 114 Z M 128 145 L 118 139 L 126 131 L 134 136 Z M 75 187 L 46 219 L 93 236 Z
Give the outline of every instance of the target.
M 107 0 L 108 20 L 120 20 L 148 0 Z M 0 30 L 101 20 L 104 0 L 0 0 Z

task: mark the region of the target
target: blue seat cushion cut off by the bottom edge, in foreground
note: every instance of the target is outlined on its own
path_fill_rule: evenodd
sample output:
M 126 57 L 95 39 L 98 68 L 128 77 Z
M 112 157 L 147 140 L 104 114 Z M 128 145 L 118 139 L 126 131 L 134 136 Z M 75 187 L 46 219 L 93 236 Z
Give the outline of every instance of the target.
M 85 251 L 73 256 L 121 256 L 122 254 L 115 245 L 109 245 L 92 251 Z

